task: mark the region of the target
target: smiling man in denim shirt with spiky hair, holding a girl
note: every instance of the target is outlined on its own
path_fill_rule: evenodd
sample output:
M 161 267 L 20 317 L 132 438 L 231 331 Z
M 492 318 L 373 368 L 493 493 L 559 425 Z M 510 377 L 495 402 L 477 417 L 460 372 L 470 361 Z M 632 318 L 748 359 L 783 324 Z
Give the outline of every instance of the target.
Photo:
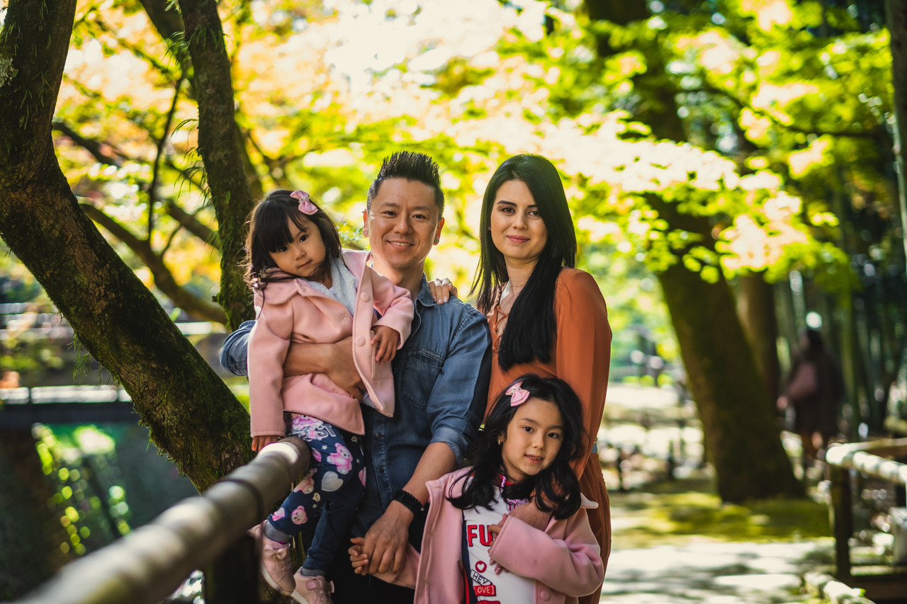
M 393 362 L 395 414 L 363 407 L 366 495 L 350 536 L 365 536 L 370 572 L 398 570 L 407 543 L 419 549 L 428 501 L 425 483 L 463 461 L 484 413 L 491 356 L 485 317 L 451 299 L 434 303 L 424 278 L 428 252 L 444 226 L 444 192 L 437 164 L 422 153 L 386 158 L 368 190 L 363 234 L 376 271 L 414 300 L 412 333 Z M 245 375 L 252 322 L 229 336 L 220 362 Z M 290 346 L 284 373 L 323 373 L 361 395 L 349 339 L 336 345 Z M 336 604 L 412 601 L 412 589 L 353 573 L 346 551 L 331 569 Z M 294 592 L 295 593 L 295 592 Z

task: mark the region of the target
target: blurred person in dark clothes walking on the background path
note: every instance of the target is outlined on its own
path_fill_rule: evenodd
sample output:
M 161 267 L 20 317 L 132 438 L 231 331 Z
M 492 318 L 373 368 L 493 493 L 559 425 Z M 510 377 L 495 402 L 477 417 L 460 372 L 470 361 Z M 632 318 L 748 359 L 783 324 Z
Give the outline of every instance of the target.
M 788 427 L 800 436 L 805 458 L 816 459 L 838 434 L 843 395 L 841 370 L 825 349 L 822 334 L 805 328 L 778 398 L 779 411 L 794 414 L 793 425 Z

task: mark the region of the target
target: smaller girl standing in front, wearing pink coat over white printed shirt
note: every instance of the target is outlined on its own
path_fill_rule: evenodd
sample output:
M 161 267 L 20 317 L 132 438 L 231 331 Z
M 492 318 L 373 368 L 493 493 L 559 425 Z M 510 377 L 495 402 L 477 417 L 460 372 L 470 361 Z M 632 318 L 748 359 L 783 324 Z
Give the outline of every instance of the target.
M 375 576 L 415 589 L 416 604 L 558 604 L 599 589 L 598 541 L 570 462 L 582 451 L 580 400 L 558 378 L 522 375 L 498 396 L 473 466 L 429 482 L 421 553 Z M 532 501 L 551 515 L 544 531 L 509 511 Z M 365 573 L 362 540 L 350 560 Z

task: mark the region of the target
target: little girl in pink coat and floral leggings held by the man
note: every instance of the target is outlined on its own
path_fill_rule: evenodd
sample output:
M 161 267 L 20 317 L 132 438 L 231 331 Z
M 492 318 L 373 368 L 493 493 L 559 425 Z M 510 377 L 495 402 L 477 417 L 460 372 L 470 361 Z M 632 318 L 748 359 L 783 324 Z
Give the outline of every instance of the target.
M 252 449 L 295 434 L 312 453 L 305 479 L 252 534 L 271 587 L 303 604 L 325 604 L 326 570 L 365 489 L 365 426 L 355 397 L 323 374 L 283 375 L 284 360 L 291 342 L 352 336 L 364 403 L 392 415 L 390 361 L 409 336 L 413 303 L 366 266 L 367 252 L 340 248 L 334 223 L 304 191 L 270 192 L 252 211 L 247 248 L 258 315 L 249 335 Z M 289 542 L 318 512 L 314 541 L 294 573 Z

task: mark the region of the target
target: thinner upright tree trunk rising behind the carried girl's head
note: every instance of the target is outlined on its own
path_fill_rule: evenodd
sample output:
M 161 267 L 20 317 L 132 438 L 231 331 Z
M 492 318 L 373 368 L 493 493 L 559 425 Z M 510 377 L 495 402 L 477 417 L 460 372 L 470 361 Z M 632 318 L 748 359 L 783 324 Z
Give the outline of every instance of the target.
M 220 234 L 220 292 L 228 325 L 254 316 L 244 273 L 246 220 L 252 193 L 246 178 L 229 57 L 214 0 L 180 0 L 185 39 L 193 66 L 193 89 L 199 101 L 199 152 L 205 163 Z

